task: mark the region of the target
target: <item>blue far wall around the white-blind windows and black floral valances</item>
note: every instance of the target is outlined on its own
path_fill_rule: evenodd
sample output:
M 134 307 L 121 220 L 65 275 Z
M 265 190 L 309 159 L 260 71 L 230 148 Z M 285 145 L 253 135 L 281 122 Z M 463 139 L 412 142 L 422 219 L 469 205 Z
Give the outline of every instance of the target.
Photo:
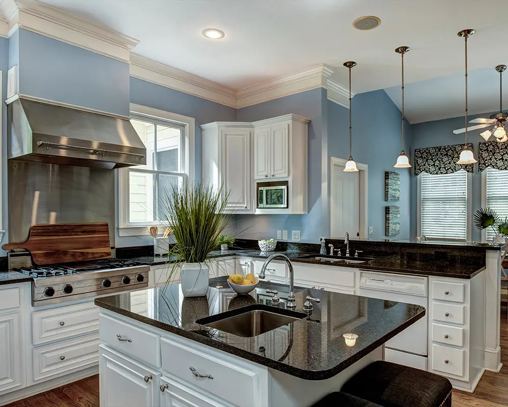
M 470 119 L 488 118 L 492 113 L 482 113 L 472 115 Z M 412 142 L 411 157 L 415 155 L 415 149 L 425 147 L 449 146 L 451 144 L 461 144 L 464 142 L 464 133 L 454 134 L 455 129 L 464 127 L 464 117 L 452 119 L 436 120 L 433 122 L 418 123 L 411 126 Z M 472 142 L 474 146 L 474 157 L 478 160 L 478 143 L 484 141 L 480 136 L 482 130 L 471 131 L 467 133 L 467 141 Z M 414 170 L 411 171 L 411 238 L 417 234 L 418 222 L 418 179 L 414 176 Z M 482 174 L 478 172 L 478 166 L 474 166 L 474 172 L 471 176 L 471 216 L 477 209 L 482 207 Z M 472 219 L 472 218 L 471 218 Z M 482 234 L 480 230 L 474 227 L 471 221 L 471 240 L 481 242 Z

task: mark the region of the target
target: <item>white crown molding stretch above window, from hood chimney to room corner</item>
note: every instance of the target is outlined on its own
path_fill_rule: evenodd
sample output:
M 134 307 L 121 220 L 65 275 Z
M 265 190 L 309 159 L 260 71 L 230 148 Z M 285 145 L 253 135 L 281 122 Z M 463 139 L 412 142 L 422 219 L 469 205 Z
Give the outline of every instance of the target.
M 131 54 L 130 73 L 135 78 L 165 86 L 166 88 L 175 89 L 226 106 L 235 108 L 237 106 L 236 92 L 227 88 L 227 86 L 181 71 L 169 65 L 161 64 L 135 53 Z

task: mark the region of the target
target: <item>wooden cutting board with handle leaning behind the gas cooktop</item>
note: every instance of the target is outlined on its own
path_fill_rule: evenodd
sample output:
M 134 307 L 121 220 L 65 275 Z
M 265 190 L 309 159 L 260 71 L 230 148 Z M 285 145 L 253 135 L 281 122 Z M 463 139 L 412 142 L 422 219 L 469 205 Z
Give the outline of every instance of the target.
M 8 243 L 2 248 L 26 249 L 38 266 L 111 257 L 106 222 L 34 225 L 26 242 Z

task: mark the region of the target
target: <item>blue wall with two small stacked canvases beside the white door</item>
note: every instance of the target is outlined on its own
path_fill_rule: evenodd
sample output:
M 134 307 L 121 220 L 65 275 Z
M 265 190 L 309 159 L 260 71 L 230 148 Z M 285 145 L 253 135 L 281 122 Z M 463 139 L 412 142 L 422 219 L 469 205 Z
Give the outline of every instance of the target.
M 328 155 L 349 158 L 349 110 L 328 101 Z M 353 157 L 369 166 L 368 224 L 373 227 L 372 240 L 385 237 L 385 207 L 400 207 L 400 235 L 390 239 L 409 238 L 410 175 L 409 169 L 394 168 L 401 151 L 401 113 L 384 90 L 361 93 L 352 100 Z M 409 152 L 411 127 L 404 124 L 405 150 Z M 327 165 L 330 165 L 328 160 Z M 385 171 L 400 173 L 400 201 L 385 201 Z

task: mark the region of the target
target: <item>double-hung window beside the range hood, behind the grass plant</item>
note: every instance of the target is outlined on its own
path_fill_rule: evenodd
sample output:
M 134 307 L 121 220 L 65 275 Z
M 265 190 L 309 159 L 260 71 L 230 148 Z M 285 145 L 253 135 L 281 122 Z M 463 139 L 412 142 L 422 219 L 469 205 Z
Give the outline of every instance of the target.
M 194 166 L 194 119 L 141 110 L 152 114 L 131 112 L 131 124 L 146 147 L 146 165 L 120 170 L 119 236 L 146 235 L 148 226 L 166 225 L 167 194 L 188 182 Z

